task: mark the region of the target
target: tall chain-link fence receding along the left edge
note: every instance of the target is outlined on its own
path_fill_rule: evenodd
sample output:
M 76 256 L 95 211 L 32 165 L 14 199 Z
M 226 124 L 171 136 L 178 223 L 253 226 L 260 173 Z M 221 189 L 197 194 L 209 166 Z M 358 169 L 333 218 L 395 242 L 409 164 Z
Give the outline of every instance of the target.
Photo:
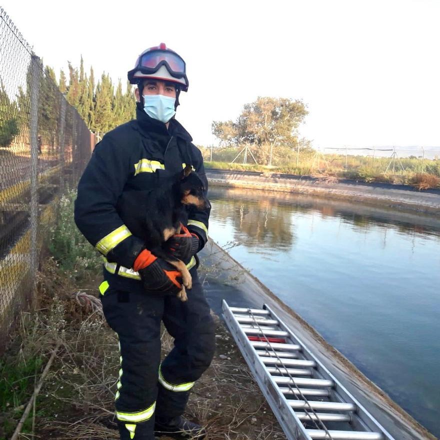
M 17 312 L 32 305 L 38 257 L 64 188 L 95 144 L 0 8 L 0 349 Z

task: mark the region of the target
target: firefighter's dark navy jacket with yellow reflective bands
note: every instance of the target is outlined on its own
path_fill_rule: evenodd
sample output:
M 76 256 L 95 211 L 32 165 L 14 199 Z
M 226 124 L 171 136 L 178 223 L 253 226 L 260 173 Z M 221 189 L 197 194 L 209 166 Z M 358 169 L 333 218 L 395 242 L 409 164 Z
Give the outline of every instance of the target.
M 104 279 L 118 288 L 140 288 L 132 270 L 142 240 L 131 234 L 116 212 L 123 190 L 155 188 L 185 165 L 207 180 L 200 150 L 189 133 L 171 119 L 164 123 L 149 117 L 140 104 L 136 120 L 106 133 L 93 150 L 78 183 L 74 218 L 82 234 L 104 256 Z M 206 243 L 209 210 L 190 210 L 187 227 Z M 187 265 L 194 265 L 194 259 Z

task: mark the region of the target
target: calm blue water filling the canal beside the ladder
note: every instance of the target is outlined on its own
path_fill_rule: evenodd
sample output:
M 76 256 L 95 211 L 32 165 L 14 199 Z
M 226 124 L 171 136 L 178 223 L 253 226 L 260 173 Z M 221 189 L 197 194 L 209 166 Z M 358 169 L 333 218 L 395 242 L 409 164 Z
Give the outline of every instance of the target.
M 209 235 L 440 435 L 440 220 L 210 188 Z

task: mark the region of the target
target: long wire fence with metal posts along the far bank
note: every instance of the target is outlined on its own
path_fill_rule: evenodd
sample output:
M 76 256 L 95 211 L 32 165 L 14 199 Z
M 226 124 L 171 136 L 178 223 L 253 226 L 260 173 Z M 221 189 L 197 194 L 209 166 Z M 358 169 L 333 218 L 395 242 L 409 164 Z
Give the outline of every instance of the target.
M 265 150 L 264 150 L 265 148 Z M 272 165 L 284 172 L 313 174 L 329 172 L 347 177 L 366 178 L 382 175 L 405 175 L 429 173 L 440 177 L 440 147 L 303 147 L 276 146 L 270 158 L 267 145 L 239 145 L 226 147 L 200 147 L 203 158 L 217 162 L 215 166 L 226 164 Z M 222 162 L 218 163 L 218 162 Z

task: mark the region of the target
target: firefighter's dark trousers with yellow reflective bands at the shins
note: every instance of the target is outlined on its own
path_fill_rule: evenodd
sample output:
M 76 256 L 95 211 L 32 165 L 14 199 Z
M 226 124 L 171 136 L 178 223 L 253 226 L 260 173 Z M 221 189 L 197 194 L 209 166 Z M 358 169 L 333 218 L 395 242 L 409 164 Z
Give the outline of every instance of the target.
M 101 294 L 105 319 L 119 339 L 115 407 L 121 440 L 153 440 L 154 418 L 181 415 L 193 382 L 211 362 L 214 324 L 195 267 L 190 273 L 186 302 L 111 284 Z M 160 321 L 174 338 L 161 363 Z

